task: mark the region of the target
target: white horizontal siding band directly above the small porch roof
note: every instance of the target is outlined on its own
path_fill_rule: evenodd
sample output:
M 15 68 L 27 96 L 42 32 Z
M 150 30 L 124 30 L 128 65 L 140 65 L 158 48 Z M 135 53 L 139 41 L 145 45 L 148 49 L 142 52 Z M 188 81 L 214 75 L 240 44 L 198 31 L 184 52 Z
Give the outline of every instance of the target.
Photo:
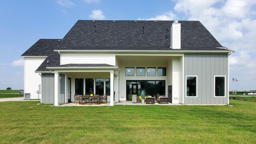
M 115 54 L 61 53 L 61 64 L 110 64 L 115 66 Z

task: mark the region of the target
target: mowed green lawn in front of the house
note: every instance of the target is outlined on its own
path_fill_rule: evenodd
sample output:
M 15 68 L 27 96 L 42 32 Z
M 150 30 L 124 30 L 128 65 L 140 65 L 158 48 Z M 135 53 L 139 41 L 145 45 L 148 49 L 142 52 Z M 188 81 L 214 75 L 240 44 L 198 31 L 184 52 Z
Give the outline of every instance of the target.
M 256 102 L 53 107 L 0 102 L 0 143 L 256 143 Z

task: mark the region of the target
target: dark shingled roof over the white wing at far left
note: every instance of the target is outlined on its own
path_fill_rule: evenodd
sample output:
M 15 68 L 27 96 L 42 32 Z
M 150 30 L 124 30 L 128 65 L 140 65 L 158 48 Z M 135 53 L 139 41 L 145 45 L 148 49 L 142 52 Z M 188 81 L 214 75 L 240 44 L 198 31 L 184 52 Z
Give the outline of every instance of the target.
M 40 39 L 21 56 L 49 56 L 54 49 L 58 49 L 61 39 Z

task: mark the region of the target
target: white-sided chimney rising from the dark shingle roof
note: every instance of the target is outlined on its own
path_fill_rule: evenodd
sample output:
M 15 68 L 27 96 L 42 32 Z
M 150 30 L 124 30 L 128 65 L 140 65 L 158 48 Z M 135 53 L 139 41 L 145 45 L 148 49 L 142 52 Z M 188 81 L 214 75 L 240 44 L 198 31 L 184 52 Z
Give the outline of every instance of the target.
M 180 49 L 180 23 L 172 24 L 171 27 L 171 48 Z

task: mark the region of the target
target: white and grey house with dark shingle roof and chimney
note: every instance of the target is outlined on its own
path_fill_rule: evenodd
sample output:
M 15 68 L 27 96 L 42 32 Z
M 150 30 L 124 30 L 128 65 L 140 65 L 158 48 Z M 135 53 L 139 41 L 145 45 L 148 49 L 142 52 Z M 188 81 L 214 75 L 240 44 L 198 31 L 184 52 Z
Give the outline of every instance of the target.
M 199 21 L 78 20 L 22 54 L 24 90 L 55 106 L 90 90 L 113 106 L 142 89 L 174 104 L 228 104 L 232 52 Z

